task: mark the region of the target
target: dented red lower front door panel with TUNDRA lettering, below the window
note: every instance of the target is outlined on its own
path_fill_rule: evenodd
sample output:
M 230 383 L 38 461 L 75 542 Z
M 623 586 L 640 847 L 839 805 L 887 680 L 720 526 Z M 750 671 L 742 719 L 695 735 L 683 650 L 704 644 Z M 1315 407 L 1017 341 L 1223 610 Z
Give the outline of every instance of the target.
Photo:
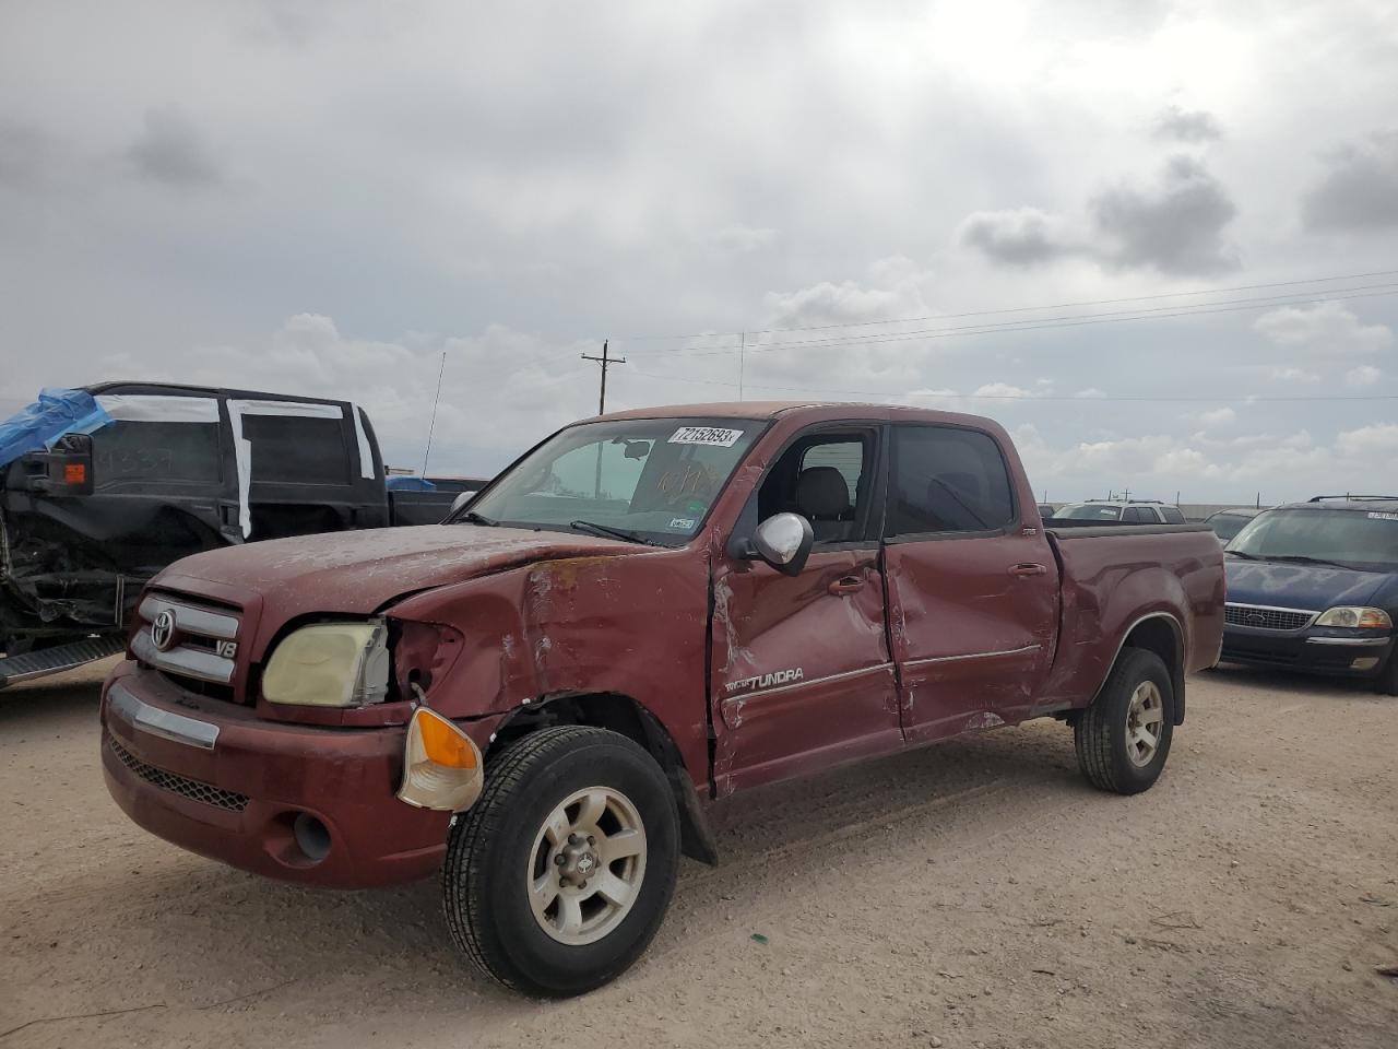
M 724 562 L 712 649 L 720 793 L 900 745 L 877 550 Z

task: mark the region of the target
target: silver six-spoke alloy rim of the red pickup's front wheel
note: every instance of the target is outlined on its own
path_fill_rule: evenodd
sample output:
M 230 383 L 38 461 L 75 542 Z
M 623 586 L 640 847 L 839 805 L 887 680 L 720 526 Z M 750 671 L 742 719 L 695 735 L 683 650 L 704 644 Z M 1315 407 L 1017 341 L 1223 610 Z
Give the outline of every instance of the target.
M 636 905 L 646 827 L 619 790 L 586 787 L 549 813 L 528 864 L 526 891 L 540 927 L 570 947 L 596 943 Z

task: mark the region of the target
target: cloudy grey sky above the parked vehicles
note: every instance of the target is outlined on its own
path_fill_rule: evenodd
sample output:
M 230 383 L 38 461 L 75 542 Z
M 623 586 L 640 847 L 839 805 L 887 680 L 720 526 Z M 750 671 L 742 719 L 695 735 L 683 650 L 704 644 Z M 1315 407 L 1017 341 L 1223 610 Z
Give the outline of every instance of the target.
M 610 407 L 988 414 L 1055 501 L 1395 490 L 1395 98 L 1391 0 L 0 0 L 0 413 L 337 396 L 419 464 L 445 352 L 488 473 L 607 337 Z

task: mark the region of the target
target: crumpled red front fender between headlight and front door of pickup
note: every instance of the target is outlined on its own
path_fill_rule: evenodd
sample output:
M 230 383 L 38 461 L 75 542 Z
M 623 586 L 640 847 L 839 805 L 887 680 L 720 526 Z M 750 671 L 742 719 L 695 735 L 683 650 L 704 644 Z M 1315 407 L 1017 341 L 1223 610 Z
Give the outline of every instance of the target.
M 625 695 L 664 726 L 702 787 L 709 557 L 696 545 L 540 561 L 417 594 L 387 614 L 466 638 L 428 694 L 449 718 Z

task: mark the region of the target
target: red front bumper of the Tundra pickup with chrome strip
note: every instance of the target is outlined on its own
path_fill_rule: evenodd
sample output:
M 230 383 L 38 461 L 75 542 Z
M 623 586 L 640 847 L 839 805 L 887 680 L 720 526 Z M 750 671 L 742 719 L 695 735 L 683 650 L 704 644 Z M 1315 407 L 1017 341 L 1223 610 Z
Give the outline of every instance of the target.
M 368 888 L 432 874 L 452 814 L 394 792 L 404 726 L 268 722 L 126 662 L 102 690 L 102 771 L 137 824 L 257 874 Z

